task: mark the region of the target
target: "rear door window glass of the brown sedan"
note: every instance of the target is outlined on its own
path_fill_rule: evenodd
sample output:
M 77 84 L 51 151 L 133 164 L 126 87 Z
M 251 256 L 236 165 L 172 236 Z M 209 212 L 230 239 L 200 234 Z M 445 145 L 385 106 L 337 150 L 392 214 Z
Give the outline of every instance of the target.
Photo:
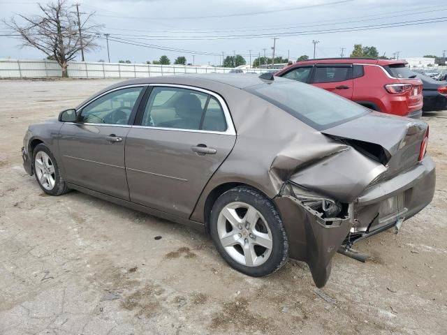
M 142 116 L 142 126 L 226 131 L 225 115 L 214 96 L 191 89 L 154 87 Z

